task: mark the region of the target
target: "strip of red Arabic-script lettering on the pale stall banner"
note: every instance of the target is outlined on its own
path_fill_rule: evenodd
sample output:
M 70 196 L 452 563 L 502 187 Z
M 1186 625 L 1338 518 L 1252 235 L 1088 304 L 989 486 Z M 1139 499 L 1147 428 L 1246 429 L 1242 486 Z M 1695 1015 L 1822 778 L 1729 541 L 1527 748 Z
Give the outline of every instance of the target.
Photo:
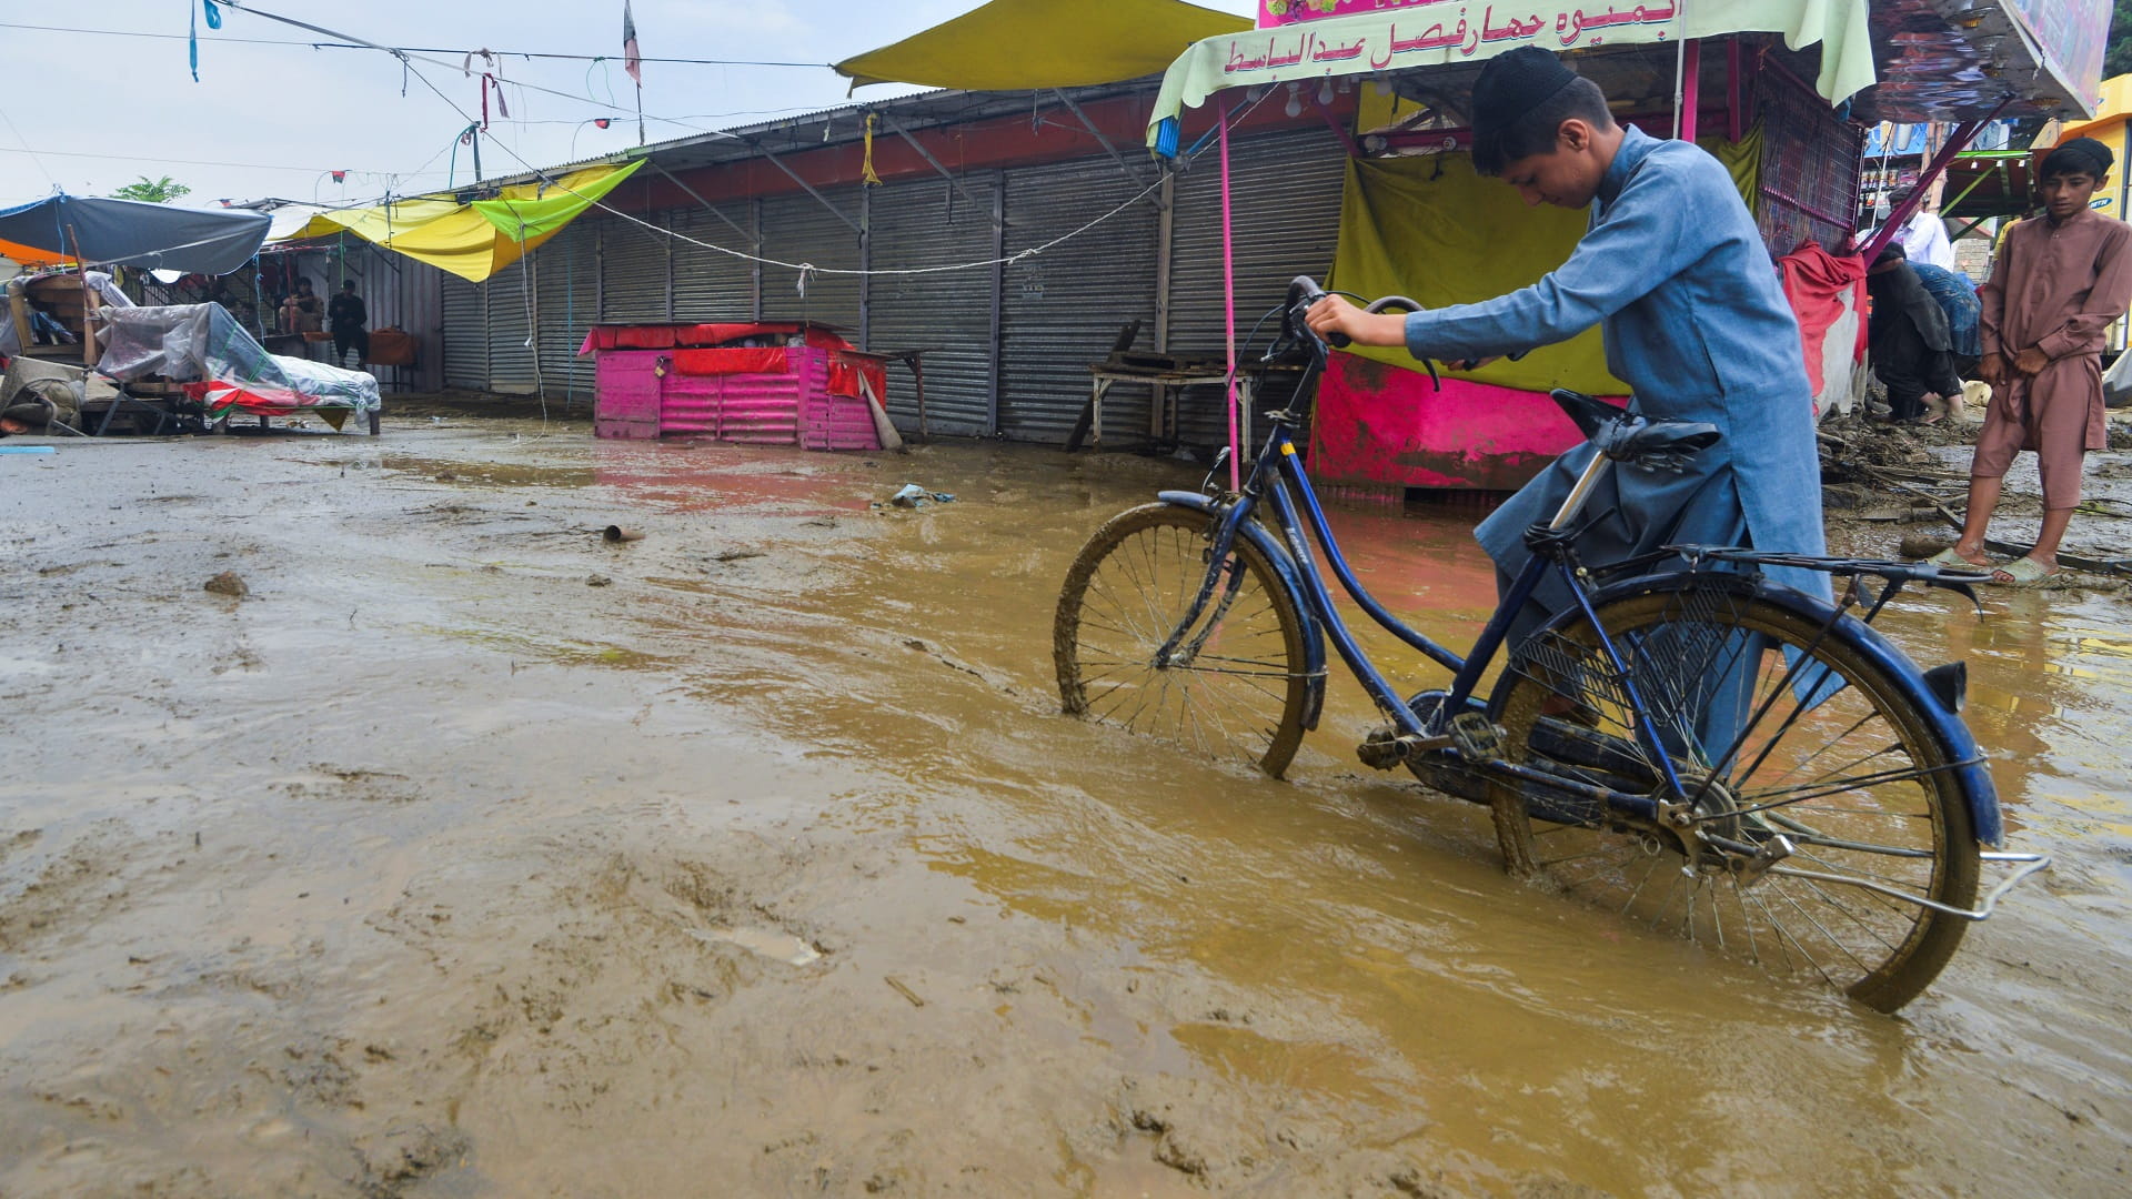
M 1277 0 L 1266 0 L 1277 2 Z M 1296 2 L 1296 0 L 1288 0 Z M 1332 0 L 1313 0 L 1320 4 Z M 1345 2 L 1345 0 L 1341 0 Z M 1480 9 L 1480 15 L 1473 15 Z M 1503 9 L 1497 13 L 1497 9 Z M 1495 55 L 1512 49 L 1503 43 L 1539 45 L 1544 49 L 1582 49 L 1605 45 L 1610 30 L 1620 26 L 1669 26 L 1680 13 L 1676 0 L 1652 0 L 1652 4 L 1608 4 L 1605 9 L 1554 4 L 1471 4 L 1460 0 L 1418 0 L 1411 15 L 1401 13 L 1392 23 L 1373 28 L 1350 26 L 1258 30 L 1228 38 L 1228 62 L 1224 73 L 1251 75 L 1283 66 L 1324 64 L 1350 70 L 1394 70 L 1420 66 L 1422 62 L 1443 62 L 1450 58 Z M 1627 32 L 1627 30 L 1625 30 Z M 1637 30 L 1629 41 L 1665 41 L 1667 30 Z M 1422 58 L 1418 51 L 1441 51 Z M 1416 55 L 1416 58 L 1407 58 Z M 1290 73 L 1292 75 L 1292 73 Z

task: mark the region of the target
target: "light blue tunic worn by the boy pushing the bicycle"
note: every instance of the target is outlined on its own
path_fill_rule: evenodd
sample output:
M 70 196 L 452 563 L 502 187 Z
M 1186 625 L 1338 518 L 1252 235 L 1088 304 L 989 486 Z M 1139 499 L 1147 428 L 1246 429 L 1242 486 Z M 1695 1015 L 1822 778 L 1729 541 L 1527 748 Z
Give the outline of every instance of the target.
M 1799 326 L 1755 218 L 1716 158 L 1629 128 L 1569 260 L 1505 297 L 1407 316 L 1407 350 L 1484 358 L 1593 324 L 1633 410 L 1708 420 L 1723 439 L 1695 454 L 1686 474 L 1616 467 L 1614 486 L 1584 510 L 1601 516 L 1578 542 L 1588 565 L 1669 542 L 1827 553 Z M 1590 454 L 1588 444 L 1569 450 L 1475 529 L 1505 576 L 1529 557 L 1527 525 L 1554 516 Z M 1767 574 L 1829 595 L 1825 574 Z M 1558 585 L 1537 595 L 1548 610 L 1567 602 Z

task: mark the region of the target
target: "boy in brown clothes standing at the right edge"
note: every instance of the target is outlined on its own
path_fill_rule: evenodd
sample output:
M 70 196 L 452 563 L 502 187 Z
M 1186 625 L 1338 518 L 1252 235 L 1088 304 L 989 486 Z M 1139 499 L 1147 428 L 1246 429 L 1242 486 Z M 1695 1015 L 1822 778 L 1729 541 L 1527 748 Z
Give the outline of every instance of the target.
M 1991 565 L 1985 529 L 2006 467 L 2036 450 L 2042 471 L 2042 531 L 2025 557 L 1991 582 L 2034 587 L 2057 574 L 2057 542 L 2081 503 L 2081 461 L 2109 446 L 2102 427 L 2102 346 L 2132 303 L 2132 226 L 2087 207 L 2109 179 L 2113 156 L 2077 137 L 2042 160 L 2045 215 L 2006 233 L 1983 301 L 1983 363 L 1991 384 L 1985 429 L 1970 461 L 1970 510 L 1961 540 L 1929 561 Z

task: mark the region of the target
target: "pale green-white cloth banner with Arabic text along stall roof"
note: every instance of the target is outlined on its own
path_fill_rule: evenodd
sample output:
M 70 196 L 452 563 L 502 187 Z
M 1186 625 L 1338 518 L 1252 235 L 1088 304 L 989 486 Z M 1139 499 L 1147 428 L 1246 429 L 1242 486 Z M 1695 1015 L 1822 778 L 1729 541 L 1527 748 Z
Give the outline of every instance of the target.
M 1162 75 L 1162 94 L 1147 119 L 1147 143 L 1158 145 L 1162 122 L 1205 105 L 1224 87 L 1480 62 L 1520 45 L 1576 53 L 1742 32 L 1782 34 L 1791 49 L 1819 43 L 1821 75 L 1814 90 L 1836 105 L 1874 83 L 1866 4 L 1868 0 L 1612 0 L 1605 6 L 1593 0 L 1420 0 L 1354 17 L 1222 34 L 1194 43 Z

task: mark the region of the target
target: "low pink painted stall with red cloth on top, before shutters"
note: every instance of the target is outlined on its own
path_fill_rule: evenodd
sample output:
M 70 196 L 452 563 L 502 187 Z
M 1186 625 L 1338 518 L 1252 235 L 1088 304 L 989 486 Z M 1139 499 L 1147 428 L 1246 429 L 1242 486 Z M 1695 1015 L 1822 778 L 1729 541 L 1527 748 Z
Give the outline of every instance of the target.
M 599 437 L 806 450 L 881 450 L 893 437 L 885 358 L 827 324 L 599 324 L 578 354 L 593 356 Z

